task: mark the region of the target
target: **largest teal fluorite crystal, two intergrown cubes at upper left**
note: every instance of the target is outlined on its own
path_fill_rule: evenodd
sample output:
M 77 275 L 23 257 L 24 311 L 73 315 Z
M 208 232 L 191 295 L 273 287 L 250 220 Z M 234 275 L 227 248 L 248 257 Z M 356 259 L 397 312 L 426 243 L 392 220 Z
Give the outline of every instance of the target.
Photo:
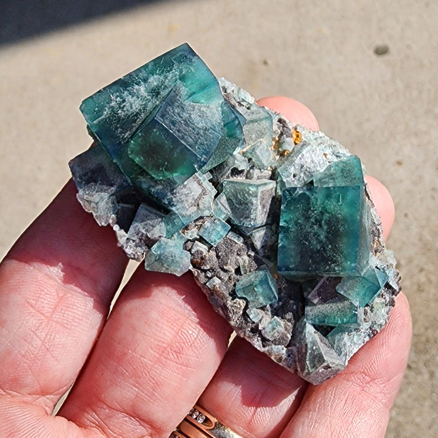
M 239 147 L 244 117 L 188 44 L 113 82 L 81 105 L 93 137 L 134 180 L 184 181 Z M 215 149 L 218 148 L 218 152 Z

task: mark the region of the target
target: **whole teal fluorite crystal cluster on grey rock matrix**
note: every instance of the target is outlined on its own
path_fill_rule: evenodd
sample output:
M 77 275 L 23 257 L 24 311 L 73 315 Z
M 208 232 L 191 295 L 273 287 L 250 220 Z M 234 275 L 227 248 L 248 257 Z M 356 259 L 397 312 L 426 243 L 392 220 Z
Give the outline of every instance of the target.
M 237 334 L 318 384 L 400 290 L 364 168 L 183 44 L 85 99 L 78 199 L 150 271 L 192 271 Z

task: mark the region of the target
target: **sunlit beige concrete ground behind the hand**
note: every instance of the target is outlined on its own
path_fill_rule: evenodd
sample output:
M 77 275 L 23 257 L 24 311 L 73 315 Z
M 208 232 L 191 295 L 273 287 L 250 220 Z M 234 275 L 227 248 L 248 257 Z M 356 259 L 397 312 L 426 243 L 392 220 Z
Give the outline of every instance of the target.
M 434 1 L 164 1 L 1 46 L 0 255 L 90 144 L 81 100 L 187 41 L 256 97 L 309 106 L 391 191 L 414 336 L 387 437 L 438 436 L 437 23 Z

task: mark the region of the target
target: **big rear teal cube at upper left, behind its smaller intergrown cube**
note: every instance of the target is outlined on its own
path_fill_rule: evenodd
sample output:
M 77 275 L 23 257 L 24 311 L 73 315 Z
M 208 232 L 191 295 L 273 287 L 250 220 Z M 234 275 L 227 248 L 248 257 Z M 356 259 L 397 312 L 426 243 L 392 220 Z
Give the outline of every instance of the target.
M 188 44 L 181 44 L 85 99 L 81 111 L 95 137 L 117 155 L 177 84 L 192 102 L 223 101 L 215 76 Z

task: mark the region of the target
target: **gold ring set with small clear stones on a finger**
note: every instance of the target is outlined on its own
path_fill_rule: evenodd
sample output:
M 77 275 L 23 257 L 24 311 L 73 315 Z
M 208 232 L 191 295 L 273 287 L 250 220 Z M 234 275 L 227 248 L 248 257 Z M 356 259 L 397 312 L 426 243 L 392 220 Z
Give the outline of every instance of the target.
M 242 438 L 205 409 L 195 405 L 170 438 Z

